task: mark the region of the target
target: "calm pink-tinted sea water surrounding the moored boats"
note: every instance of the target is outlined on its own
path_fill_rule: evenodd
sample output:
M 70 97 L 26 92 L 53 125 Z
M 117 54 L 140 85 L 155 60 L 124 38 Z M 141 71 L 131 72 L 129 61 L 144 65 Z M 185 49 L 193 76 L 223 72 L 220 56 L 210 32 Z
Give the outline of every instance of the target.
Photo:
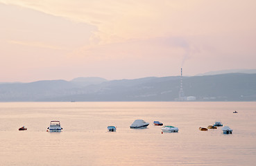
M 150 124 L 130 129 L 137 119 Z M 232 134 L 199 130 L 215 121 Z M 256 165 L 256 102 L 0 102 L 0 148 L 4 166 Z

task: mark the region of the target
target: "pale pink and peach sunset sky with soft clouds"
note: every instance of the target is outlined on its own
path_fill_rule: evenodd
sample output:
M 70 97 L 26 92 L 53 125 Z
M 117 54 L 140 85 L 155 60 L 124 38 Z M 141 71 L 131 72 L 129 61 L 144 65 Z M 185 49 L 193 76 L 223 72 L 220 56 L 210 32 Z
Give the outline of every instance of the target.
M 256 68 L 255 0 L 0 0 L 0 82 Z

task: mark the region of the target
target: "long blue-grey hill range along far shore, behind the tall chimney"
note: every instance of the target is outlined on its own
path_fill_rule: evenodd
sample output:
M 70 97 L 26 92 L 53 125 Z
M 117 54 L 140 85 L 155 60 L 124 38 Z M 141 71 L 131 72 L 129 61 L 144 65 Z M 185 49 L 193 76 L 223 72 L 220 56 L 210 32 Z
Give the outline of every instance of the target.
M 256 101 L 256 74 L 183 77 L 183 89 L 195 101 Z M 111 81 L 76 78 L 0 84 L 0 102 L 175 101 L 179 90 L 179 76 Z

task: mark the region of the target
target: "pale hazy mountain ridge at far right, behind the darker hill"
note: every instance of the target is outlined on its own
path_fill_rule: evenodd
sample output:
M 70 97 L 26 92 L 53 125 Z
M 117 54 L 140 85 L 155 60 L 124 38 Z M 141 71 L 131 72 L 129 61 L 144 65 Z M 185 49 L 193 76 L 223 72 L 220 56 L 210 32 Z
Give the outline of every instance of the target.
M 230 69 L 230 70 L 223 70 L 223 71 L 210 71 L 207 73 L 200 73 L 196 76 L 202 76 L 202 75 L 219 75 L 219 74 L 227 74 L 227 73 L 248 73 L 253 74 L 256 73 L 256 69 Z

